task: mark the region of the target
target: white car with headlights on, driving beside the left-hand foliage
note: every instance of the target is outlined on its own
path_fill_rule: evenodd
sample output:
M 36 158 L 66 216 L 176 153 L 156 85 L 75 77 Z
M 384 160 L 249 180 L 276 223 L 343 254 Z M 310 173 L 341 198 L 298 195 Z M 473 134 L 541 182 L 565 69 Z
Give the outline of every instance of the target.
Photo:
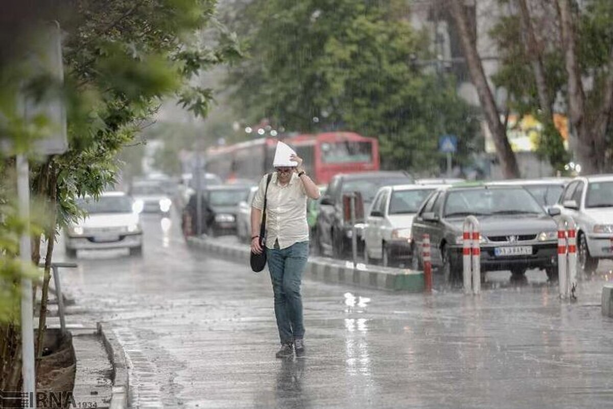
M 87 216 L 64 231 L 68 257 L 76 257 L 77 250 L 118 248 L 127 248 L 132 255 L 142 254 L 143 230 L 139 217 L 142 209 L 129 195 L 105 192 L 99 200 L 88 196 L 78 199 L 77 204 Z

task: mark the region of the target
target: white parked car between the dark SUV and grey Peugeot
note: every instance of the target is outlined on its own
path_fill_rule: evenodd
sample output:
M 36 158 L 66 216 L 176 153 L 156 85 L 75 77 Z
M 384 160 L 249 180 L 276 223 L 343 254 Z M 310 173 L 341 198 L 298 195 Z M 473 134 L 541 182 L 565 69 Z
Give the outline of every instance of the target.
M 366 216 L 364 257 L 389 266 L 411 260 L 413 217 L 428 196 L 443 185 L 409 184 L 379 189 Z

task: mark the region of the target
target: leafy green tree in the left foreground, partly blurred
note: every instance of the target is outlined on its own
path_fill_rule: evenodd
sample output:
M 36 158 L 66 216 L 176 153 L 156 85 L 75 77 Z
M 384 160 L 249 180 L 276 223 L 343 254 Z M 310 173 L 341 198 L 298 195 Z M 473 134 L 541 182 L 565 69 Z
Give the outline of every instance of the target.
M 210 106 L 210 90 L 198 86 L 194 78 L 201 70 L 240 55 L 234 37 L 217 23 L 212 24 L 217 32 L 215 43 L 207 46 L 200 40 L 201 30 L 211 24 L 215 0 L 74 0 L 70 5 L 50 9 L 45 2 L 45 7 L 32 7 L 44 10 L 44 15 L 30 16 L 32 20 L 57 20 L 64 30 L 63 86 L 24 69 L 27 64 L 18 48 L 0 54 L 0 134 L 6 135 L 14 148 L 5 153 L 0 168 L 4 176 L 0 204 L 5 206 L 0 220 L 0 291 L 13 298 L 3 298 L 0 304 L 9 306 L 11 311 L 18 295 L 14 238 L 24 228 L 23 223 L 10 216 L 15 213 L 8 193 L 14 182 L 9 177 L 14 167 L 11 154 L 29 152 L 32 141 L 45 133 L 44 118 L 23 121 L 15 101 L 18 94 L 38 97 L 55 90 L 63 96 L 67 108 L 69 150 L 43 161 L 31 158 L 32 193 L 40 198 L 48 216 L 41 225 L 48 244 L 39 328 L 45 328 L 49 263 L 57 230 L 83 216 L 75 199 L 83 195 L 97 197 L 115 182 L 119 170 L 116 155 L 133 143 L 135 134 L 162 98 L 177 97 L 182 107 L 204 116 Z M 15 7 L 20 6 L 16 3 Z M 22 33 L 30 31 L 29 26 L 21 29 Z M 4 38 L 0 35 L 0 39 Z M 42 212 L 38 213 L 42 216 Z M 30 231 L 34 243 L 32 261 L 37 265 L 41 231 Z M 21 266 L 22 270 L 28 274 L 25 266 Z M 4 318 L 0 325 L 2 390 L 17 390 L 19 384 L 16 317 L 18 313 L 9 317 L 0 314 Z M 41 347 L 38 342 L 38 356 Z

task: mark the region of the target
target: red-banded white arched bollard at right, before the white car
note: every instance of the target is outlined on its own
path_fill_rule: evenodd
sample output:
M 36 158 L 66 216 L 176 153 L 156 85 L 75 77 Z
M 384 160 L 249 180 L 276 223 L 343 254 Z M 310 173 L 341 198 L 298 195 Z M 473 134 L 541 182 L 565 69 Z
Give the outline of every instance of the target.
M 558 283 L 560 298 L 576 298 L 577 289 L 577 227 L 572 217 L 558 219 Z

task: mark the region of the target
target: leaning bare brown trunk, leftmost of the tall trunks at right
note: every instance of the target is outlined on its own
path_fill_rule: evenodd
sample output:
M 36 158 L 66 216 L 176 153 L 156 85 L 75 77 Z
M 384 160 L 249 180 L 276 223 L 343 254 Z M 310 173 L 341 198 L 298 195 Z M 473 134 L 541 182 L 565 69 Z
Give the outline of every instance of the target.
M 485 78 L 485 72 L 481 64 L 481 58 L 479 57 L 476 43 L 474 43 L 468 31 L 463 1 L 449 0 L 449 6 L 451 6 L 450 12 L 460 34 L 460 43 L 462 44 L 462 50 L 464 51 L 466 63 L 468 64 L 470 77 L 479 94 L 479 102 L 481 102 L 481 106 L 485 113 L 487 126 L 490 129 L 490 133 L 492 133 L 493 143 L 496 148 L 498 160 L 500 160 L 502 165 L 504 178 L 519 178 L 520 173 L 519 167 L 517 167 L 515 153 L 512 151 L 511 144 L 506 137 L 506 129 L 504 129 L 502 122 L 500 122 L 500 114 L 498 113 L 492 90 L 487 83 L 487 78 Z

